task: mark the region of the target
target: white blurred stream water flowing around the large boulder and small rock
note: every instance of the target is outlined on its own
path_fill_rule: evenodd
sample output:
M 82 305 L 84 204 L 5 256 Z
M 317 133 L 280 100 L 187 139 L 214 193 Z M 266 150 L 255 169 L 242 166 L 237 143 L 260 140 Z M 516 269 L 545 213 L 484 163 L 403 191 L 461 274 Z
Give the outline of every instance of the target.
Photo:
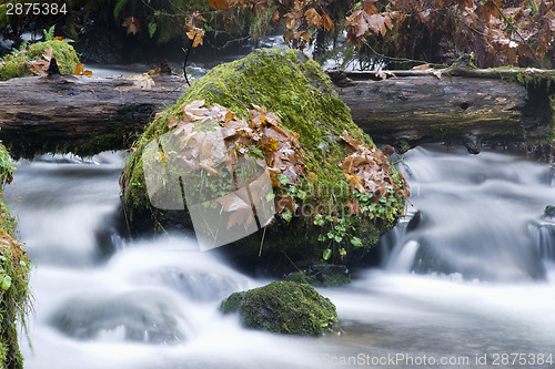
M 320 338 L 246 330 L 222 316 L 222 298 L 268 280 L 190 238 L 122 242 L 112 225 L 122 165 L 121 154 L 42 157 L 21 162 L 7 188 L 34 264 L 34 314 L 20 340 L 28 369 L 555 360 L 555 223 L 542 217 L 555 187 L 546 164 L 437 146 L 408 152 L 398 166 L 412 186 L 410 215 L 383 237 L 383 267 L 320 289 L 343 330 Z M 522 356 L 513 363 L 503 353 Z

